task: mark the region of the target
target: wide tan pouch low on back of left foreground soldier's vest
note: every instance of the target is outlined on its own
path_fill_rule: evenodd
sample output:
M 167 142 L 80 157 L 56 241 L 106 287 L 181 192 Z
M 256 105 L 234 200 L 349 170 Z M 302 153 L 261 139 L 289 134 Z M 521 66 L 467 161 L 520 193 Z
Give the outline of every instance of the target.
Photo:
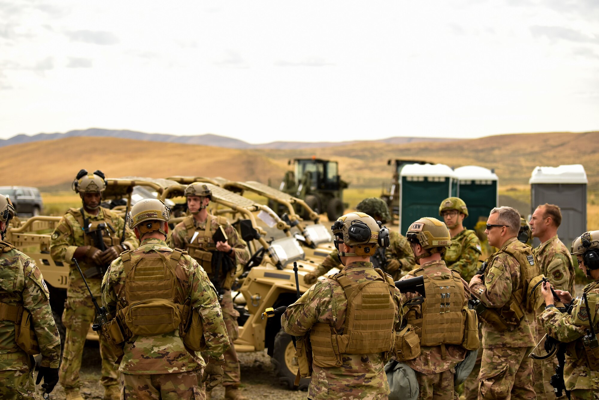
M 181 323 L 179 307 L 166 299 L 136 302 L 124 314 L 125 324 L 133 335 L 165 334 L 178 329 Z

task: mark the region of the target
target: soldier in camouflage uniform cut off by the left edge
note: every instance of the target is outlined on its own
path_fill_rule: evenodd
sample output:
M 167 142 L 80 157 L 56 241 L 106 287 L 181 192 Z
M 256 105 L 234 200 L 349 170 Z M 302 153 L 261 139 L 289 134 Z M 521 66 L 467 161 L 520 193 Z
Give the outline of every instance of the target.
M 42 355 L 37 383 L 44 392 L 58 383 L 60 337 L 50 309 L 50 293 L 34 260 L 4 241 L 14 208 L 0 195 L 0 398 L 35 399 L 35 362 L 16 343 L 15 329 L 25 314 L 31 315 Z

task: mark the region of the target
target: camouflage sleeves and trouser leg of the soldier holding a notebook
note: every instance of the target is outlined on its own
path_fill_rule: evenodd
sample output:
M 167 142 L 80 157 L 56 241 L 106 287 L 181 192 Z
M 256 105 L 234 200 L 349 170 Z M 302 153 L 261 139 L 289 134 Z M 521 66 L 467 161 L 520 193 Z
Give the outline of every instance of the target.
M 219 227 L 217 217 L 210 216 L 211 219 L 211 228 L 210 228 L 210 242 L 207 243 L 208 246 L 214 247 L 214 244 L 211 241 L 212 235 L 216 232 L 216 229 Z M 186 217 L 187 219 L 191 219 L 193 222 L 193 226 L 195 227 L 195 231 L 204 232 L 206 228 L 206 222 L 198 222 L 193 216 Z M 247 250 L 246 242 L 239 237 L 237 231 L 229 224 L 228 222 L 223 225 L 225 228 L 225 234 L 227 235 L 227 243 L 232 247 L 235 254 L 235 265 L 237 264 L 245 264 L 250 259 L 249 250 Z M 173 234 L 168 239 L 168 245 L 170 247 L 187 250 L 187 244 L 189 244 L 189 231 L 186 228 L 186 222 L 180 222 L 173 229 Z M 228 256 L 226 256 L 228 257 Z M 201 260 L 198 260 L 201 263 Z M 235 275 L 235 270 L 229 272 L 231 277 Z M 212 277 L 210 277 L 212 278 Z M 222 285 L 221 285 L 222 286 Z M 231 289 L 225 289 L 225 292 L 222 294 L 222 300 L 220 301 L 220 307 L 222 307 L 223 311 L 223 320 L 225 320 L 226 329 L 229 335 L 229 350 L 225 352 L 225 364 L 223 367 L 223 386 L 230 387 L 239 387 L 241 383 L 241 372 L 240 372 L 240 363 L 239 358 L 237 356 L 237 351 L 235 351 L 235 346 L 233 342 L 237 340 L 239 327 L 237 325 L 237 317 L 239 317 L 239 312 L 235 310 L 233 307 L 233 299 L 231 297 Z

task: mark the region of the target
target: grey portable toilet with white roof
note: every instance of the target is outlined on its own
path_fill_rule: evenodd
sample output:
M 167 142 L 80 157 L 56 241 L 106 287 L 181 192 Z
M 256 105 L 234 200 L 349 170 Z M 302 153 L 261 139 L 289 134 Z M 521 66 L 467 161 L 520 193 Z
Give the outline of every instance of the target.
M 531 214 L 545 203 L 561 208 L 562 222 L 559 239 L 570 248 L 575 238 L 586 232 L 586 179 L 585 167 L 580 164 L 537 166 L 530 180 Z M 533 246 L 540 241 L 534 238 Z

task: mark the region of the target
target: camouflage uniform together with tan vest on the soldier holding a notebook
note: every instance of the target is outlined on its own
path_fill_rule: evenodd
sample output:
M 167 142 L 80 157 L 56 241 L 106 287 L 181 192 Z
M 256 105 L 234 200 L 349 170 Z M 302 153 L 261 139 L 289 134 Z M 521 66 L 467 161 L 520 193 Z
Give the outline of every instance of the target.
M 231 285 L 235 280 L 235 268 L 229 271 L 219 271 L 219 277 L 214 276 L 216 268 L 212 265 L 214 253 L 216 252 L 216 243 L 213 241 L 213 235 L 216 230 L 222 226 L 228 238 L 227 243 L 231 246 L 235 259 L 233 264 L 245 264 L 250 258 L 246 242 L 239 237 L 237 231 L 229 224 L 225 217 L 213 216 L 208 214 L 204 222 L 198 222 L 193 216 L 187 216 L 183 221 L 177 224 L 173 234 L 168 240 L 171 247 L 186 250 L 193 259 L 197 260 L 204 271 L 208 274 L 211 281 L 221 290 L 220 307 L 223 311 L 223 319 L 227 332 L 229 334 L 229 350 L 225 352 L 225 364 L 223 365 L 223 386 L 238 387 L 241 383 L 241 372 L 239 358 L 233 342 L 237 340 L 239 328 L 237 317 L 239 312 L 233 307 L 231 297 Z M 197 235 L 196 235 L 197 233 Z M 195 238 L 194 238 L 195 236 Z M 224 254 L 224 253 L 222 253 Z M 225 254 L 225 257 L 229 257 Z M 225 265 L 223 263 L 223 265 Z

